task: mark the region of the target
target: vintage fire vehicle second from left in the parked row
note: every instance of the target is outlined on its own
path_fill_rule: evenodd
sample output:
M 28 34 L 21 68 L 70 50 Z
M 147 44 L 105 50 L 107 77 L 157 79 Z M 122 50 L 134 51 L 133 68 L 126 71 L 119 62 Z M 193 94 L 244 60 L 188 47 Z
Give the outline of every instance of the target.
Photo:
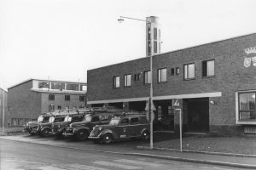
M 48 137 L 51 132 L 51 124 L 53 122 L 63 122 L 67 115 L 55 115 L 49 117 L 49 122 L 40 122 L 38 124 L 37 133 L 41 137 Z

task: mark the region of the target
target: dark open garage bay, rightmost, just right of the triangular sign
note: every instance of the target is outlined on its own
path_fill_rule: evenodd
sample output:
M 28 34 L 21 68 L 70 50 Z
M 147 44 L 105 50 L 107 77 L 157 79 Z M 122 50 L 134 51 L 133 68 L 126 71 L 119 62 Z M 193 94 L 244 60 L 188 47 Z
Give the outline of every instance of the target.
M 188 99 L 189 132 L 209 131 L 209 98 Z

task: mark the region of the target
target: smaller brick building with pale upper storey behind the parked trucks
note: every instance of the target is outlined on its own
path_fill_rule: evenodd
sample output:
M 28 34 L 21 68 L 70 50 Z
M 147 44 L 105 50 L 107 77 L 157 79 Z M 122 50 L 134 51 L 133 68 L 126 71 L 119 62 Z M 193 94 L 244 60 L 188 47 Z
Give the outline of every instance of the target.
M 21 126 L 45 112 L 79 109 L 86 105 L 85 82 L 29 79 L 8 90 L 9 121 L 12 126 Z

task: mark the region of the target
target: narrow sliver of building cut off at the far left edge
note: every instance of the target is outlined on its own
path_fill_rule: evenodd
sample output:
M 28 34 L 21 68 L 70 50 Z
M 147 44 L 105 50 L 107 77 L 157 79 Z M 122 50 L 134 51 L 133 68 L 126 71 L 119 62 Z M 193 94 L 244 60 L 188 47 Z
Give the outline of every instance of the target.
M 7 127 L 8 125 L 7 119 L 9 116 L 9 112 L 7 107 L 7 98 L 8 98 L 7 91 L 3 88 L 0 88 L 0 128 L 3 127 L 3 123 L 4 123 L 4 127 Z M 4 122 L 3 122 L 3 119 L 4 119 Z

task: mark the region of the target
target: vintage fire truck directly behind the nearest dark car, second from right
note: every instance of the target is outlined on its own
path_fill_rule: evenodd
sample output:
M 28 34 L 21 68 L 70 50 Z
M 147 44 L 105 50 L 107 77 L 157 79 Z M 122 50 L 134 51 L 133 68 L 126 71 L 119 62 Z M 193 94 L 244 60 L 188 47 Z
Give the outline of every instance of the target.
M 83 122 L 73 122 L 66 128 L 63 135 L 65 137 L 73 136 L 75 139 L 87 139 L 90 131 L 96 125 L 108 124 L 113 116 L 113 112 L 93 112 L 84 116 Z

